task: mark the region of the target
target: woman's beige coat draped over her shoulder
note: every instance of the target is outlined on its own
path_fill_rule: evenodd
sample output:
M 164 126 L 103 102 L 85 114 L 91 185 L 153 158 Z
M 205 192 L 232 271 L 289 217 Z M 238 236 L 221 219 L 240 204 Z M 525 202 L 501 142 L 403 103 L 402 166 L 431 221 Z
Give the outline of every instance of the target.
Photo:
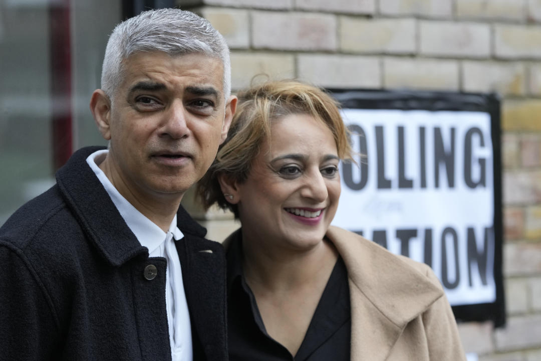
M 427 265 L 331 226 L 346 264 L 352 361 L 463 361 L 451 307 Z

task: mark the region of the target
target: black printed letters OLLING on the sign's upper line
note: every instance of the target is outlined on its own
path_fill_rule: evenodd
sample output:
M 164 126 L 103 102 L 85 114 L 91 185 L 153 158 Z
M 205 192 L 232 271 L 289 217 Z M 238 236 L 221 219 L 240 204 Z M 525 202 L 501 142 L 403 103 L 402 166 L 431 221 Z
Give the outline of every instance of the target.
M 417 145 L 406 143 L 405 127 L 397 127 L 397 139 L 390 139 L 385 136 L 385 127 L 382 125 L 374 126 L 374 139 L 367 139 L 365 130 L 358 124 L 351 124 L 349 130 L 355 137 L 358 148 L 355 152 L 364 156 L 359 166 L 351 163 L 344 163 L 342 166 L 342 178 L 345 185 L 353 191 L 359 191 L 367 186 L 368 172 L 375 170 L 377 172 L 376 187 L 377 189 L 390 189 L 392 187 L 400 189 L 412 188 L 427 188 L 427 177 L 432 176 L 434 188 L 440 188 L 444 185 L 448 188 L 455 188 L 456 181 L 463 181 L 468 188 L 486 187 L 486 167 L 487 160 L 482 156 L 475 156 L 476 150 L 483 153 L 485 140 L 483 132 L 477 127 L 472 127 L 467 130 L 463 138 L 458 139 L 455 127 L 448 128 L 447 136 L 443 135 L 442 128 L 434 127 L 418 127 L 417 129 Z M 432 142 L 427 141 L 427 132 L 432 132 Z M 375 142 L 375 153 L 368 152 L 368 142 Z M 397 142 L 398 154 L 386 154 L 386 142 Z M 408 157 L 408 149 L 418 147 L 419 158 L 411 159 Z M 463 147 L 463 159 L 457 159 L 457 147 Z M 374 149 L 374 148 L 372 148 Z M 432 167 L 427 167 L 427 152 L 433 154 Z M 397 179 L 391 179 L 385 173 L 386 160 L 390 157 L 396 157 L 398 160 Z M 415 177 L 406 175 L 406 162 L 418 162 L 419 172 Z M 457 168 L 461 166 L 462 169 Z M 375 167 L 375 169 L 373 168 Z M 427 170 L 432 170 L 432 174 L 427 174 Z M 460 172 L 462 170 L 462 172 Z M 354 175 L 354 172 L 358 174 Z M 457 175 L 460 175 L 457 180 Z

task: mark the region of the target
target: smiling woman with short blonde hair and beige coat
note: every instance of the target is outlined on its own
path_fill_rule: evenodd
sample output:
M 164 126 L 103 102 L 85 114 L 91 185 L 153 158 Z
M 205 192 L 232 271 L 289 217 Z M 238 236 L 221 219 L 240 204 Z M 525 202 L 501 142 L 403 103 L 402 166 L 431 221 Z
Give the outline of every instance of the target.
M 352 159 L 332 98 L 295 81 L 238 97 L 199 184 L 242 225 L 225 241 L 230 359 L 464 360 L 430 268 L 330 226 Z

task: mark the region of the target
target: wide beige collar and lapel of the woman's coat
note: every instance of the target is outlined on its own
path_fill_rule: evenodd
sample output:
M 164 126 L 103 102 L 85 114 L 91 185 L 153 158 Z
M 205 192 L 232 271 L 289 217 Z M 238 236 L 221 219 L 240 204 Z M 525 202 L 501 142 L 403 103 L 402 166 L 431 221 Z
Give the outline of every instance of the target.
M 443 296 L 413 261 L 331 226 L 327 237 L 346 264 L 351 297 L 352 360 L 383 361 L 409 321 Z

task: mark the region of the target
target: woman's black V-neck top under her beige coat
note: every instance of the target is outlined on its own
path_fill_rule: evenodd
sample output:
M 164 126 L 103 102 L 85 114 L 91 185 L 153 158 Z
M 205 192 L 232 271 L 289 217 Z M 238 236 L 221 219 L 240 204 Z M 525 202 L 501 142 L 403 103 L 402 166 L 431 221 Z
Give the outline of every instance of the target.
M 295 356 L 268 335 L 242 272 L 241 235 L 227 252 L 228 339 L 231 361 L 348 361 L 351 310 L 344 261 L 338 259 Z

